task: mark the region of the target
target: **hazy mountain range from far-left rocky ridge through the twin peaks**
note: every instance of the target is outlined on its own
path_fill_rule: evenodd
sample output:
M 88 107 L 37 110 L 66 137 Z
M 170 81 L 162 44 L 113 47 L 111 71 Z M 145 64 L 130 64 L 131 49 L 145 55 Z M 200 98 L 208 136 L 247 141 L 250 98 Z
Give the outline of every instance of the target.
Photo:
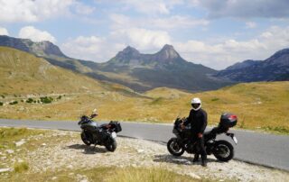
M 228 86 L 233 82 L 211 77 L 217 71 L 182 59 L 172 45 L 164 45 L 154 54 L 143 54 L 126 47 L 105 63 L 71 59 L 49 41 L 33 42 L 0 36 L 0 45 L 33 53 L 52 65 L 67 68 L 97 80 L 109 81 L 144 92 L 155 87 L 203 91 Z

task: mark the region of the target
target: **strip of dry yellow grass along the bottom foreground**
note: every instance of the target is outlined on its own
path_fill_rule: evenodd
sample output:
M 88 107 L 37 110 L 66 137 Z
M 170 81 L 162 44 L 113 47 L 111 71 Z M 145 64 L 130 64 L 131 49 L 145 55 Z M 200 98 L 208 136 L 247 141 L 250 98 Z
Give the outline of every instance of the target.
M 11 173 L 3 181 L 106 181 L 106 182 L 195 182 L 200 180 L 190 176 L 182 176 L 163 168 L 117 168 L 98 167 L 91 169 L 74 169 L 62 171 L 46 171 L 43 173 Z

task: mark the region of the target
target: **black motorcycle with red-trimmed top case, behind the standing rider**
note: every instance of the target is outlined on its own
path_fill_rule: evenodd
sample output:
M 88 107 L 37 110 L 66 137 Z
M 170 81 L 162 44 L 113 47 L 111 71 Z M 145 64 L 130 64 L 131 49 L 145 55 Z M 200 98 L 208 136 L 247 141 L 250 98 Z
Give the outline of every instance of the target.
M 172 138 L 167 142 L 167 149 L 173 156 L 182 156 L 184 151 L 195 154 L 199 153 L 197 141 L 191 141 L 191 125 L 188 124 L 182 130 L 182 123 L 187 118 L 177 118 L 174 122 L 172 132 L 176 138 Z M 228 161 L 234 157 L 234 147 L 228 141 L 216 140 L 218 134 L 225 133 L 231 137 L 235 143 L 238 143 L 234 133 L 228 132 L 229 128 L 235 126 L 238 122 L 237 115 L 222 114 L 218 127 L 213 128 L 210 132 L 204 132 L 205 149 L 207 154 L 213 154 L 220 161 Z

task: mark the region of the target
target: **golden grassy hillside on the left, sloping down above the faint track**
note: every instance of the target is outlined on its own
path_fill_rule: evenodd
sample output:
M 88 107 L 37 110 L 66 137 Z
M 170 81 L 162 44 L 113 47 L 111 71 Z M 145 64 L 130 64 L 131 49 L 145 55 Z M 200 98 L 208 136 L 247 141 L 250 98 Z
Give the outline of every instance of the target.
M 0 47 L 0 95 L 47 95 L 131 92 L 125 86 L 99 82 L 70 70 L 51 65 L 47 60 L 12 48 Z

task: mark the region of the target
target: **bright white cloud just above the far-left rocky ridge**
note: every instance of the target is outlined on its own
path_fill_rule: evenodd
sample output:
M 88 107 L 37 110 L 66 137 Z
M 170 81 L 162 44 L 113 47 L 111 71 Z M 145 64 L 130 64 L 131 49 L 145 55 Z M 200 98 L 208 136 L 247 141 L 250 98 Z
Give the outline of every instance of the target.
M 51 41 L 53 43 L 56 42 L 56 39 L 51 35 L 51 33 L 46 31 L 41 31 L 33 26 L 25 26 L 23 27 L 18 35 L 23 39 L 30 39 L 32 41 Z

